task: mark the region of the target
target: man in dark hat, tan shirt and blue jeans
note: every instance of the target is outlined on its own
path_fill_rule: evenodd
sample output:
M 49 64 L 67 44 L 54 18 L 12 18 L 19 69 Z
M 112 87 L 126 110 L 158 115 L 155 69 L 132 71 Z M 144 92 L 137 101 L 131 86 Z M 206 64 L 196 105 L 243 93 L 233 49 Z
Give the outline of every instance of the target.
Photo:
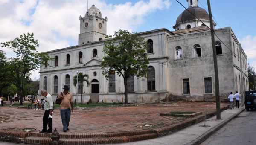
M 60 104 L 60 112 L 63 131 L 67 132 L 69 130 L 68 126 L 70 122 L 71 111 L 73 112 L 73 96 L 69 92 L 69 86 L 64 85 L 63 89 L 64 92 L 61 92 L 58 95 L 58 98 L 62 99 Z

